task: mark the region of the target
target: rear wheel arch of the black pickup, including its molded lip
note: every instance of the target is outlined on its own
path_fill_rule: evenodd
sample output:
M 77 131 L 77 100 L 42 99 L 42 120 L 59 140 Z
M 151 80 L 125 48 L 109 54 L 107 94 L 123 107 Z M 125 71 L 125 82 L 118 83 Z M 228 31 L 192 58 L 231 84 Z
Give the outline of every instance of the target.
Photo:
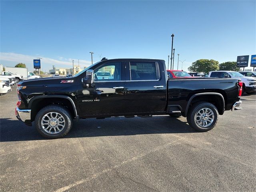
M 210 96 L 210 95 L 213 97 L 208 98 L 208 96 Z M 217 103 L 214 103 L 214 99 L 217 100 Z M 186 106 L 185 116 L 187 116 L 187 114 L 188 114 L 188 109 L 190 107 L 190 104 L 193 104 L 198 101 L 210 102 L 216 106 L 216 108 L 218 109 L 218 113 L 220 115 L 224 114 L 225 100 L 224 100 L 223 95 L 220 93 L 206 92 L 206 93 L 197 93 L 190 97 L 190 99 L 188 100 L 187 106 Z

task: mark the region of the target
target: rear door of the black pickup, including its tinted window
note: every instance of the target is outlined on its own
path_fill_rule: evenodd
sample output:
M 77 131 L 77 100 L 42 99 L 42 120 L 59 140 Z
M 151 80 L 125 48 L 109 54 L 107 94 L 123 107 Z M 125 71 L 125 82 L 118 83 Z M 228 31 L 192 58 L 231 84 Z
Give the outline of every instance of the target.
M 126 62 L 126 112 L 161 113 L 166 107 L 166 71 L 152 60 Z M 160 75 L 161 74 L 161 75 Z

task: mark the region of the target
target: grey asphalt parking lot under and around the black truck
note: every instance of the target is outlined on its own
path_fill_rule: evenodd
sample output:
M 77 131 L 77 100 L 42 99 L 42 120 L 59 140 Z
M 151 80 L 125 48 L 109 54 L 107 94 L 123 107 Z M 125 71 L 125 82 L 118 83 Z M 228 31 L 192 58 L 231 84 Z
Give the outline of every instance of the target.
M 256 95 L 209 132 L 186 118 L 86 119 L 48 140 L 0 96 L 1 191 L 256 191 Z

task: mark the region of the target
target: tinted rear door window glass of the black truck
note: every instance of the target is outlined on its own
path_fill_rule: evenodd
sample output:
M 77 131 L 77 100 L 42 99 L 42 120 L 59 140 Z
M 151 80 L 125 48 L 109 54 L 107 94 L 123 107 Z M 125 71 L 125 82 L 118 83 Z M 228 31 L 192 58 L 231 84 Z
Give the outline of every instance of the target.
M 157 80 L 155 62 L 130 62 L 131 80 Z

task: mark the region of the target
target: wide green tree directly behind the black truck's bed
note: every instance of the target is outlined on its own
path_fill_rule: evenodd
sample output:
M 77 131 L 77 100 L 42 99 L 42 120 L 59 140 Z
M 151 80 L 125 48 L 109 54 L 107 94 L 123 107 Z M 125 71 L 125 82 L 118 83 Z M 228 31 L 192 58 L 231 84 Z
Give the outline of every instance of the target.
M 213 59 L 199 59 L 192 63 L 192 65 L 188 68 L 190 72 L 204 72 L 208 73 L 210 71 L 216 71 L 219 69 L 219 62 Z

